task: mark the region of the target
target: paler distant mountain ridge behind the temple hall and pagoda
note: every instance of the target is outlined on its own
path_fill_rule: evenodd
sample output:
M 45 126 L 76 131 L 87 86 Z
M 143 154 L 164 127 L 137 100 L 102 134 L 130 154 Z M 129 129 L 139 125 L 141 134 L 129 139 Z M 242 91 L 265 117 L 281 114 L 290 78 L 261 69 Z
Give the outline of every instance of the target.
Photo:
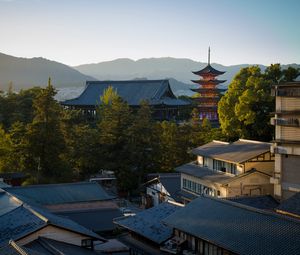
M 137 61 L 131 59 L 116 59 L 113 61 L 100 62 L 98 64 L 86 64 L 75 66 L 81 73 L 91 75 L 99 80 L 122 80 L 134 79 L 135 77 L 147 77 L 148 79 L 164 79 L 172 77 L 177 81 L 191 84 L 191 80 L 197 79 L 192 71 L 204 68 L 207 63 L 196 62 L 191 59 L 178 58 L 144 58 Z M 228 85 L 233 76 L 244 65 L 223 66 L 212 63 L 212 66 L 226 73 L 220 79 L 227 80 Z

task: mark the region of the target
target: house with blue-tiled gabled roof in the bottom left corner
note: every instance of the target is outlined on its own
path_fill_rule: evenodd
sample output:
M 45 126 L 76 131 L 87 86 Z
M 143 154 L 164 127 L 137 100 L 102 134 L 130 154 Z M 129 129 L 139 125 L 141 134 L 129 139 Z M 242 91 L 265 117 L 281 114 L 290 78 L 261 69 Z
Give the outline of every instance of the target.
M 4 190 L 0 190 L 0 229 L 0 254 L 92 255 L 107 252 L 105 247 L 110 243 L 115 252 L 128 254 L 124 244 L 107 240 L 47 209 L 29 205 Z

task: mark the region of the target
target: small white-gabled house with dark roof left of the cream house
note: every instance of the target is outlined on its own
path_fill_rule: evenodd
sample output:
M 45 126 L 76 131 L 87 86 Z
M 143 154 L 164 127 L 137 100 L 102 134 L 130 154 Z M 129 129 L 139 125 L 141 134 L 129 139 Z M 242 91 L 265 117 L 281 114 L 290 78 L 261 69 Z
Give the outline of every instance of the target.
M 146 188 L 143 196 L 146 208 L 166 201 L 181 201 L 179 173 L 152 173 L 147 175 L 147 179 L 143 185 Z

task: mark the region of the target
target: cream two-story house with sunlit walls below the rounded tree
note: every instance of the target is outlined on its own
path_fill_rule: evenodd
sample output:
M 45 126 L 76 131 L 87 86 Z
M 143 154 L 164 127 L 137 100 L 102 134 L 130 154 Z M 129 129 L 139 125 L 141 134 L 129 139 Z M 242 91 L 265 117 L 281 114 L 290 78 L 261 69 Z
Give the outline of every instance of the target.
M 192 150 L 197 157 L 176 168 L 181 173 L 183 199 L 206 194 L 218 197 L 273 194 L 270 177 L 274 156 L 270 144 L 239 139 L 234 143 L 212 141 Z

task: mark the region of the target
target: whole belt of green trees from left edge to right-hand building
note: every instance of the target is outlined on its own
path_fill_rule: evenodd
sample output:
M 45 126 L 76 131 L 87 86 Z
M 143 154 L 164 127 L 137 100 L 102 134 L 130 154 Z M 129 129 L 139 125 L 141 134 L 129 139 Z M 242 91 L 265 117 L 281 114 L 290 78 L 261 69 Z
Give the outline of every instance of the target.
M 192 148 L 213 139 L 270 141 L 272 85 L 298 75 L 280 64 L 264 72 L 241 69 L 219 102 L 220 128 L 200 121 L 196 108 L 182 123 L 154 121 L 147 102 L 133 112 L 111 87 L 96 119 L 88 121 L 80 111 L 63 109 L 50 79 L 46 88 L 14 92 L 10 86 L 0 93 L 0 172 L 25 173 L 26 185 L 83 181 L 106 169 L 115 172 L 120 191 L 132 191 L 147 173 L 174 171 L 194 159 Z

